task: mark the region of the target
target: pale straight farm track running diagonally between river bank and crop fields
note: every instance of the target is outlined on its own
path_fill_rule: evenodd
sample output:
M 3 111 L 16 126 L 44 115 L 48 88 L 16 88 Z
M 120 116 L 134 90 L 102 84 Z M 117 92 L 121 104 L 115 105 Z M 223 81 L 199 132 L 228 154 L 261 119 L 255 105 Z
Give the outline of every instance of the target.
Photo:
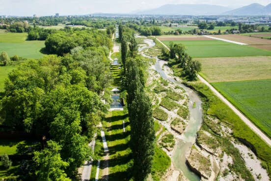
M 156 38 L 166 49 L 170 50 L 162 41 Z M 232 105 L 222 94 L 220 94 L 211 84 L 209 84 L 204 78 L 198 75 L 198 78 L 206 86 L 208 86 L 230 109 L 232 109 L 237 116 L 240 117 L 246 125 L 248 125 L 256 134 L 258 134 L 269 146 L 271 146 L 271 139 L 267 137 L 258 127 L 256 127 L 251 121 L 249 121 L 234 105 Z

